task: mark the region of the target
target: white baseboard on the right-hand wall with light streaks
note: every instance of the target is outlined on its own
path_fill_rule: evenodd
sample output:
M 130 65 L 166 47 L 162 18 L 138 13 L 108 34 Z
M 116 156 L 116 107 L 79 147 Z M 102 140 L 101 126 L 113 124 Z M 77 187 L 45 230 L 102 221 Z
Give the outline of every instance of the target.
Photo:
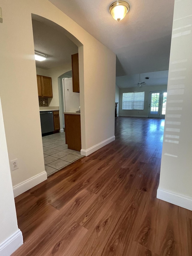
M 191 197 L 187 197 L 185 195 L 178 194 L 164 188 L 158 188 L 157 198 L 192 211 Z

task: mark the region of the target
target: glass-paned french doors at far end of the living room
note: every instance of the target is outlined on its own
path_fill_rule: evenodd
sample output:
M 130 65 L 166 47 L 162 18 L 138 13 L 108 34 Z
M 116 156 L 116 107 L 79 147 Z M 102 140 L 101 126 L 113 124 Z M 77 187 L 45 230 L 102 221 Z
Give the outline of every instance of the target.
M 165 118 L 167 92 L 154 91 L 149 95 L 149 117 Z

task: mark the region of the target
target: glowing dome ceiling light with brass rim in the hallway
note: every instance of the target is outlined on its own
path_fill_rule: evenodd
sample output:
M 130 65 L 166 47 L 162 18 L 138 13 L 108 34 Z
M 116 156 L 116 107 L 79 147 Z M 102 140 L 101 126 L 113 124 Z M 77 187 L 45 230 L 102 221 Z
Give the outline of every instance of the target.
M 115 20 L 122 20 L 128 13 L 130 6 L 125 1 L 116 1 L 110 5 L 109 11 Z

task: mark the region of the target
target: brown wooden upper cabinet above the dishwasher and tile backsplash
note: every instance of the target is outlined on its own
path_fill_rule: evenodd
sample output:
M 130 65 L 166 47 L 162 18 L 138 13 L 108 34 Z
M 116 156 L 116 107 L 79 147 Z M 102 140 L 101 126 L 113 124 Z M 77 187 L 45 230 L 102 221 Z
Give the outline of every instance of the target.
M 51 77 L 37 75 L 38 96 L 52 98 Z

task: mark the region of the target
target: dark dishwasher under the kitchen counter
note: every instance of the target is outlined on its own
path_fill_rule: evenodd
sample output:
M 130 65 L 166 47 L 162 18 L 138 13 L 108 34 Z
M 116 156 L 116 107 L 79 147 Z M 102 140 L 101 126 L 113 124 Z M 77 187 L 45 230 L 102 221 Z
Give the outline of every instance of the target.
M 52 111 L 40 111 L 40 119 L 41 119 L 42 134 L 54 131 Z

